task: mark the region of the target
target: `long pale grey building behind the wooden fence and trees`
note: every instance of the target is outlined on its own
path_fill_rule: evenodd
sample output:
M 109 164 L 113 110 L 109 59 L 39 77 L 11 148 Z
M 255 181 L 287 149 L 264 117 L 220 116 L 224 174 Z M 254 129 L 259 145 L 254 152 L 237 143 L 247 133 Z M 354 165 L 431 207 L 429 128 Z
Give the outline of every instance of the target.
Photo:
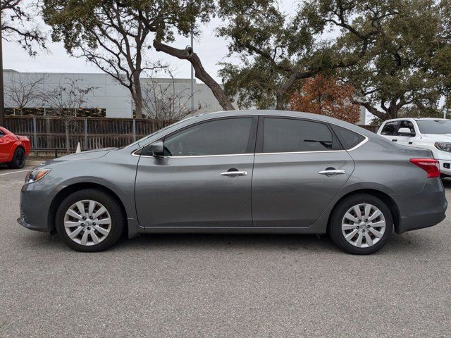
M 142 78 L 142 87 L 145 87 L 150 79 Z M 156 79 L 162 87 L 171 86 L 177 93 L 186 93 L 185 102 L 191 108 L 190 103 L 190 79 Z M 35 92 L 48 92 L 56 87 L 64 87 L 71 81 L 77 81 L 78 87 L 92 88 L 85 97 L 83 106 L 80 109 L 80 116 L 104 116 L 107 118 L 132 118 L 133 104 L 130 92 L 123 87 L 113 77 L 104 73 L 20 73 L 16 70 L 4 70 L 4 93 L 6 114 L 16 115 L 18 113 L 16 96 L 26 96 L 31 92 L 30 87 L 35 82 Z M 223 108 L 214 97 L 213 92 L 203 83 L 197 83 L 194 79 L 194 110 L 196 113 L 211 113 L 222 111 Z M 37 89 L 37 90 L 36 90 Z M 22 91 L 22 92 L 20 92 Z M 32 96 L 32 95 L 30 95 Z M 24 115 L 47 115 L 49 106 L 46 106 L 42 99 L 30 97 L 27 101 Z M 359 125 L 364 125 L 366 109 L 360 108 Z

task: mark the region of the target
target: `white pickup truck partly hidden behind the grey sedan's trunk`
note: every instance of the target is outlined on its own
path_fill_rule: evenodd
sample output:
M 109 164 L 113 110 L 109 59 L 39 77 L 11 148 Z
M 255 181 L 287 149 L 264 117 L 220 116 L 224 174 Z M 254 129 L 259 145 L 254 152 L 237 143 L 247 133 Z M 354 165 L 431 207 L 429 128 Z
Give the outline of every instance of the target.
M 432 151 L 440 173 L 451 177 L 451 120 L 444 118 L 395 118 L 386 120 L 378 134 L 404 146 Z

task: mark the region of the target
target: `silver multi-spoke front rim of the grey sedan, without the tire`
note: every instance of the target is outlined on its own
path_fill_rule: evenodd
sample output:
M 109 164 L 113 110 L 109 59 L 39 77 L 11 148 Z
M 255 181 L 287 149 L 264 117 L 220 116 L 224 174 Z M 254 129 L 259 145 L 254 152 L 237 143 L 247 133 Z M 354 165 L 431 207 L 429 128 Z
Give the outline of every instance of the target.
M 66 211 L 64 228 L 73 242 L 92 246 L 103 242 L 111 231 L 109 211 L 97 201 L 78 201 Z

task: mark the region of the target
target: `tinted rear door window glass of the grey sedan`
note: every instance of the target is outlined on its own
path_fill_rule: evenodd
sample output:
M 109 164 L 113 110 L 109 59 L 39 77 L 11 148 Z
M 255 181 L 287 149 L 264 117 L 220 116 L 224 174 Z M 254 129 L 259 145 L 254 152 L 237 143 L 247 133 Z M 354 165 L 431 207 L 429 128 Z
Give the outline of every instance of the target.
M 289 118 L 265 118 L 264 120 L 264 153 L 332 149 L 332 133 L 323 123 Z

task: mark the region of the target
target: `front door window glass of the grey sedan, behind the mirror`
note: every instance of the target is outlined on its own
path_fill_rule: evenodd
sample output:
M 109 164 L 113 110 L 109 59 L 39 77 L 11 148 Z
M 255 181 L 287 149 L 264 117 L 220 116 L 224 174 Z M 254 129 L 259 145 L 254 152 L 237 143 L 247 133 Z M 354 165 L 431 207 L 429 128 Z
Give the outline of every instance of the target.
M 166 156 L 246 154 L 252 118 L 227 118 L 194 125 L 164 140 Z

